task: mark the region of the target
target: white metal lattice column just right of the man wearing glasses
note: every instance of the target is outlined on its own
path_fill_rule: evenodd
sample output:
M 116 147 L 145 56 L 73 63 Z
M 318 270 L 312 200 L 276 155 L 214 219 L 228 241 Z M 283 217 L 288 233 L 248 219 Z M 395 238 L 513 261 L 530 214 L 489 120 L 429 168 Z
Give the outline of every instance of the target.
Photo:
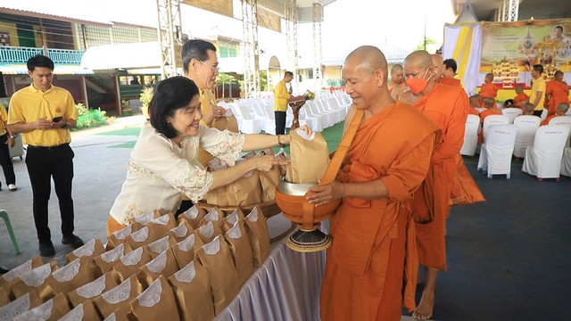
M 258 0 L 242 0 L 244 33 L 244 95 L 260 96 L 260 46 L 258 45 Z

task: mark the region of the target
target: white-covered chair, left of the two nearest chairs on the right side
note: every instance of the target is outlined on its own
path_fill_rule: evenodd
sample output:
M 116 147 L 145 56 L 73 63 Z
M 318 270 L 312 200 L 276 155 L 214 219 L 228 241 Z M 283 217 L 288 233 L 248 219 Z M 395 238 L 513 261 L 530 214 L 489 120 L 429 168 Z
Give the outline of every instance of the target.
M 511 174 L 511 154 L 516 142 L 516 125 L 492 125 L 488 128 L 486 142 L 482 144 L 478 170 L 487 170 L 488 178 L 492 175 Z

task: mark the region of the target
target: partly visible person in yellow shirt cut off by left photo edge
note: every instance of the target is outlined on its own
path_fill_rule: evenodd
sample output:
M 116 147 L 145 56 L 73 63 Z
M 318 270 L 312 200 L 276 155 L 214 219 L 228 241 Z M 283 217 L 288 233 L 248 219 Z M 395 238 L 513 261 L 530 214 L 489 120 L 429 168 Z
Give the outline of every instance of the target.
M 7 126 L 8 113 L 2 103 L 0 103 L 0 166 L 4 171 L 4 178 L 6 178 L 6 185 L 10 192 L 16 191 L 16 175 L 14 174 L 14 166 L 12 164 L 12 157 L 10 157 L 10 148 L 14 146 L 16 136 L 14 132 Z M 0 183 L 0 191 L 2 190 L 2 183 Z

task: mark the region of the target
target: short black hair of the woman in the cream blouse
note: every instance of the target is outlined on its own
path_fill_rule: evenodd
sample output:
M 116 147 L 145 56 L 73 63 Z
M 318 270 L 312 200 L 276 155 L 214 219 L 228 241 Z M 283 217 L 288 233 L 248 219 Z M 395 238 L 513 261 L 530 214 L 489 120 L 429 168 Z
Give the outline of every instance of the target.
M 194 95 L 198 95 L 198 87 L 189 78 L 177 76 L 162 80 L 154 89 L 149 103 L 151 126 L 167 138 L 177 136 L 167 117 L 174 117 L 175 112 L 186 107 Z

